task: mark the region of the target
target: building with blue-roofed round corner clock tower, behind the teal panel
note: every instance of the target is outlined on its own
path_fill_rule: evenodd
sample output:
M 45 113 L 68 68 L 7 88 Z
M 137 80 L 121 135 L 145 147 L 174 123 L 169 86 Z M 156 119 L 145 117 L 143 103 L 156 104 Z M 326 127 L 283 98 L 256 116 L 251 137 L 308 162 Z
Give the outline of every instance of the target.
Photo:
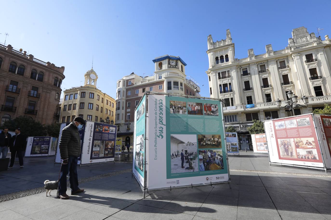
M 145 92 L 200 96 L 199 83 L 186 76 L 186 63 L 179 56 L 160 56 L 153 62 L 154 74 L 138 76 L 131 73 L 117 81 L 115 122 L 117 136 L 122 137 L 124 146 L 133 146 L 134 110 Z

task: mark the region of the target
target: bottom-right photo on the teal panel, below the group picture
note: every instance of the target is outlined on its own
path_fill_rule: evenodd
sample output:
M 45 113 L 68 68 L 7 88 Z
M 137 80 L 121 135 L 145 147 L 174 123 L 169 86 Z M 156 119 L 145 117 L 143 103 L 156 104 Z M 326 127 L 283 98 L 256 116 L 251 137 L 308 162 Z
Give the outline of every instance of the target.
M 223 170 L 221 150 L 199 150 L 199 171 Z

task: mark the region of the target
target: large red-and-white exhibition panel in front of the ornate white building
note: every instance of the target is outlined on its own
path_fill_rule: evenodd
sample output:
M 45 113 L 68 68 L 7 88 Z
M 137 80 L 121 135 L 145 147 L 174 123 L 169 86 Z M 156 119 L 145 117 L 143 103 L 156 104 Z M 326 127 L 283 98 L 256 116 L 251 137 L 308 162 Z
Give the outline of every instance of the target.
M 325 124 L 322 127 L 327 128 Z M 270 162 L 324 166 L 312 114 L 264 121 L 264 128 Z

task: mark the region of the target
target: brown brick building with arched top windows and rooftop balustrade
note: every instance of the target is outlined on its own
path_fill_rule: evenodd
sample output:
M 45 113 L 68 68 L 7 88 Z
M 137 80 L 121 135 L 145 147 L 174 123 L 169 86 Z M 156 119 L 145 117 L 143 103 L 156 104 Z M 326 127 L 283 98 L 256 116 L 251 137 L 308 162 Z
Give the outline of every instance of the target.
M 0 123 L 22 115 L 42 124 L 56 122 L 63 72 L 64 67 L 0 44 Z

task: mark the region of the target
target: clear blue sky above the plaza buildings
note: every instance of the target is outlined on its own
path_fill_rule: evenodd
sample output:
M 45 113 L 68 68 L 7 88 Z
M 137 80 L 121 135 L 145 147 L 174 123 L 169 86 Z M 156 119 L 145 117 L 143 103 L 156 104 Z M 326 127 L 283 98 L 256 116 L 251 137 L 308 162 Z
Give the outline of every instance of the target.
M 56 3 L 55 3 L 56 2 Z M 331 1 L 3 1 L 0 42 L 36 58 L 65 66 L 62 89 L 79 86 L 91 69 L 97 86 L 116 96 L 116 81 L 132 72 L 154 72 L 152 59 L 180 56 L 186 74 L 209 97 L 207 37 L 226 38 L 230 29 L 235 57 L 247 50 L 265 53 L 288 44 L 293 28 L 331 37 Z M 204 85 L 204 86 L 202 86 Z

